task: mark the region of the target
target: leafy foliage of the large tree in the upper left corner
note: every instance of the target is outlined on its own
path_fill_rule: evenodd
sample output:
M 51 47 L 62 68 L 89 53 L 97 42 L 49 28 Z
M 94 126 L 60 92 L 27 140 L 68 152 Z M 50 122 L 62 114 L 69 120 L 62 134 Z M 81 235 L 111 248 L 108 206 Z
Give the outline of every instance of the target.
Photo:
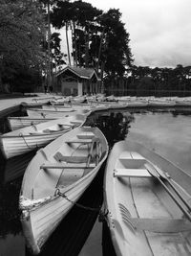
M 38 1 L 0 0 L 0 6 L 1 84 L 1 81 L 13 81 L 20 69 L 27 72 L 39 69 L 43 58 L 40 42 L 45 27 Z

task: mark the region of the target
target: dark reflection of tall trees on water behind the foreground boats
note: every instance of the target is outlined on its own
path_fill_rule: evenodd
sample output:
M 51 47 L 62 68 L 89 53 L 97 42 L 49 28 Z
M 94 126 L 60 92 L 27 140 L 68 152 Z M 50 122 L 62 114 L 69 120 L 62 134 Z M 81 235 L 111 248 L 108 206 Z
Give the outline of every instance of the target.
M 98 115 L 97 117 L 95 115 L 92 119 L 89 118 L 87 125 L 100 128 L 111 148 L 117 141 L 126 137 L 132 121 L 134 121 L 133 115 L 111 112 L 109 115 Z

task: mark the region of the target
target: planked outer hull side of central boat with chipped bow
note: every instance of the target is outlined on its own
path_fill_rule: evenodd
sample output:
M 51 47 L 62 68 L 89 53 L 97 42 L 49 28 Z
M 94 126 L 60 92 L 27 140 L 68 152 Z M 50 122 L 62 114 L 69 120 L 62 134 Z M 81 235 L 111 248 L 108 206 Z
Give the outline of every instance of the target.
M 62 221 L 72 209 L 74 202 L 81 197 L 91 184 L 97 172 L 98 169 L 96 169 L 91 176 L 76 185 L 72 193 L 66 193 L 68 199 L 61 197 L 53 198 L 35 210 L 32 210 L 29 216 L 25 215 L 25 213 L 22 215 L 21 223 L 27 240 L 26 242 L 34 254 L 40 252 L 43 244 L 45 244 L 47 239 L 51 236 L 60 221 Z M 73 203 L 69 200 L 73 201 Z M 29 229 L 31 229 L 29 226 L 32 226 L 32 229 L 36 231 L 35 237 L 32 235 L 31 231 L 29 231 Z

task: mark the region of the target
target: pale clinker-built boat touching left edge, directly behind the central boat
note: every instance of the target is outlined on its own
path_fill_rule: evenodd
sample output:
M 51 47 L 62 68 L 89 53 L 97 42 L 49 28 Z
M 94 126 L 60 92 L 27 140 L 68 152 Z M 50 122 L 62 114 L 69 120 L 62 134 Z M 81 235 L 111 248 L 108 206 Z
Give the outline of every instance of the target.
M 85 121 L 86 116 L 73 115 L 4 133 L 0 135 L 1 151 L 8 159 L 27 151 L 37 150 L 72 128 L 82 126 Z

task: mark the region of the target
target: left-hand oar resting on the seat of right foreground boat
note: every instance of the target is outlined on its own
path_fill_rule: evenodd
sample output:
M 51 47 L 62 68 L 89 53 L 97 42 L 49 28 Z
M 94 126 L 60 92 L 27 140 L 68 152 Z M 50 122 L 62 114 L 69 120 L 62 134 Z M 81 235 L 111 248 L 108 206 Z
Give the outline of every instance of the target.
M 173 200 L 177 203 L 177 205 L 180 207 L 180 210 L 182 211 L 182 213 L 187 217 L 187 219 L 189 221 L 191 221 L 191 215 L 180 205 L 180 202 L 177 200 L 177 198 L 175 198 L 175 196 L 173 195 L 173 193 L 168 189 L 168 187 L 164 184 L 164 182 L 161 180 L 160 175 L 158 173 L 158 171 L 150 164 L 145 164 L 144 165 L 145 168 L 148 170 L 148 172 L 157 177 L 157 179 L 159 180 L 159 183 L 163 186 L 163 188 L 165 189 L 165 191 L 169 194 L 169 196 L 171 198 L 173 198 Z

